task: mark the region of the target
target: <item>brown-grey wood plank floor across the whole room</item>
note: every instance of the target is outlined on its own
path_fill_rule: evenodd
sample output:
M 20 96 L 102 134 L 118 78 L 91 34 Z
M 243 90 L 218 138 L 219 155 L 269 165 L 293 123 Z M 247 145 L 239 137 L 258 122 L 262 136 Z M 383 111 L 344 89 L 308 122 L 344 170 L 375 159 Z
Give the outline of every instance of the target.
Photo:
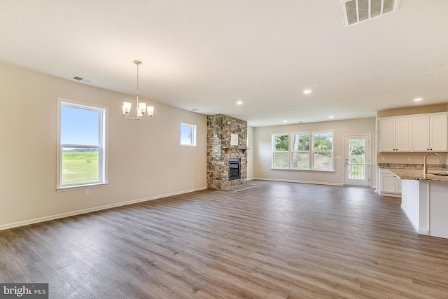
M 50 298 L 448 298 L 448 239 L 417 235 L 400 199 L 257 183 L 0 231 L 0 281 Z

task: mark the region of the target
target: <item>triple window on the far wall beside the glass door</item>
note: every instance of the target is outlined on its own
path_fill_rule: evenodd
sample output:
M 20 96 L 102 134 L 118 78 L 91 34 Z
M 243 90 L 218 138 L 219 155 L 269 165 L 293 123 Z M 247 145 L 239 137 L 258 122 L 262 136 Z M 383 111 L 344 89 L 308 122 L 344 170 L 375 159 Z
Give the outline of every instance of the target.
M 334 170 L 332 131 L 274 134 L 272 145 L 273 168 Z

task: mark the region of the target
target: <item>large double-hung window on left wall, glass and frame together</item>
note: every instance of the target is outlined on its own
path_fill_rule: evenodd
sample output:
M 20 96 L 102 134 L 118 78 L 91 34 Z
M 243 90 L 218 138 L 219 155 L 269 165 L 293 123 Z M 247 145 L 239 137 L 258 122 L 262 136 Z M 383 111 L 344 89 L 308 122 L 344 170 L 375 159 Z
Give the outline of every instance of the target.
M 59 100 L 58 188 L 106 183 L 106 109 Z

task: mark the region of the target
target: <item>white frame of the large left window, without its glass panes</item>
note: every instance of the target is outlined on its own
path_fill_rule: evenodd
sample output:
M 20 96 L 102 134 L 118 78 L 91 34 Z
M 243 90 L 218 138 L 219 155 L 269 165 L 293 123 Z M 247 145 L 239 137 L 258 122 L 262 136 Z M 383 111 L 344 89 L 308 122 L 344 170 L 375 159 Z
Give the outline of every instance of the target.
M 69 106 L 76 109 L 85 109 L 99 112 L 99 145 L 91 146 L 85 144 L 62 144 L 61 143 L 61 106 Z M 67 190 L 73 188 L 85 188 L 91 186 L 107 185 L 107 165 L 106 165 L 106 125 L 108 109 L 104 106 L 97 106 L 90 103 L 76 102 L 68 99 L 57 99 L 57 190 Z M 95 148 L 98 150 L 98 181 L 83 183 L 62 183 L 62 149 L 63 148 Z

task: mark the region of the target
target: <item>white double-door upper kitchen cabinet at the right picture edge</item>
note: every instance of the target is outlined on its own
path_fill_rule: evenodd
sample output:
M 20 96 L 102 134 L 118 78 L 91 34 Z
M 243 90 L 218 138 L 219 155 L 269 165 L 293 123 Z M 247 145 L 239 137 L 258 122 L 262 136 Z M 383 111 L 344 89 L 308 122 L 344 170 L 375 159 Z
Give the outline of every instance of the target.
M 412 118 L 412 151 L 448 151 L 448 116 Z

